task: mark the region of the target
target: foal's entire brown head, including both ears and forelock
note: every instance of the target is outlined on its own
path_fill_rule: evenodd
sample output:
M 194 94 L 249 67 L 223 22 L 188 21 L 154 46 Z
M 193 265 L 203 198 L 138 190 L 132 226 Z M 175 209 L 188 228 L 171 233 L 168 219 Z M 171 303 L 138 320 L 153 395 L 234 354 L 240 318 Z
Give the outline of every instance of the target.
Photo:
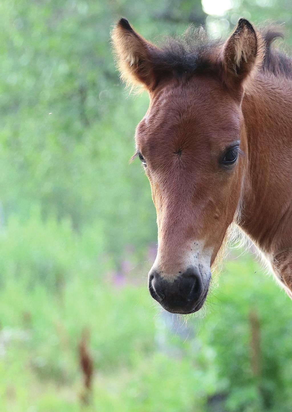
M 112 41 L 121 78 L 150 95 L 136 131 L 157 210 L 150 293 L 168 311 L 191 313 L 203 305 L 210 266 L 240 203 L 248 159 L 241 101 L 264 43 L 245 19 L 224 44 L 199 29 L 157 47 L 126 19 Z

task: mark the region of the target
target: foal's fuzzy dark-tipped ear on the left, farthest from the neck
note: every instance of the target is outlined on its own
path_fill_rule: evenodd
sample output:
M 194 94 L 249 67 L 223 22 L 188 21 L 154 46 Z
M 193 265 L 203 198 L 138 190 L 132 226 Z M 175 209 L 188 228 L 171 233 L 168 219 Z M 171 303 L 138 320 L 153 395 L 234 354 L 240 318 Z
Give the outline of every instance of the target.
M 120 19 L 111 34 L 121 79 L 132 86 L 154 89 L 157 80 L 152 58 L 159 49 L 138 35 L 126 19 Z

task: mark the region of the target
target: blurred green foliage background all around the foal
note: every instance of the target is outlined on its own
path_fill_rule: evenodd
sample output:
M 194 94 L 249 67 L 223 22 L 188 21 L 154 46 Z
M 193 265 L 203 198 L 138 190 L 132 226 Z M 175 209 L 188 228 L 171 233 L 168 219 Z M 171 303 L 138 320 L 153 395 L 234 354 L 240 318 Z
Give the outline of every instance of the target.
M 184 326 L 152 306 L 155 210 L 128 164 L 148 98 L 127 98 L 110 51 L 120 16 L 154 41 L 205 21 L 225 33 L 241 15 L 290 28 L 285 0 L 232 4 L 207 16 L 198 0 L 0 2 L 1 411 L 292 410 L 292 307 L 248 256 L 205 317 Z

